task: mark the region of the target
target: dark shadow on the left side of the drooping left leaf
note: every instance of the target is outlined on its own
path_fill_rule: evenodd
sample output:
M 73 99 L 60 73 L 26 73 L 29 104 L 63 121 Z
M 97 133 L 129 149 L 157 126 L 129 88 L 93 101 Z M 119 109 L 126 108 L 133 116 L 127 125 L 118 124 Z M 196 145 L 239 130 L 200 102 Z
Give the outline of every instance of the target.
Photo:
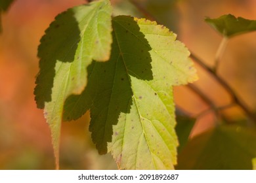
M 84 5 L 89 6 L 89 5 Z M 45 102 L 51 101 L 56 63 L 73 62 L 81 31 L 75 18 L 73 8 L 56 16 L 54 22 L 46 29 L 38 46 L 40 71 L 35 80 L 35 101 L 38 108 L 44 108 Z

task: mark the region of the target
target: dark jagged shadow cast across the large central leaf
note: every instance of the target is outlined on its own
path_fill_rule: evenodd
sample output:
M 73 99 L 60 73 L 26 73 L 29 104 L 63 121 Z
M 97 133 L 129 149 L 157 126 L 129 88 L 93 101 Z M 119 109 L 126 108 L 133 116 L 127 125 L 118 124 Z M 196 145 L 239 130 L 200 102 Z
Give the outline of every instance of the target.
M 112 142 L 113 125 L 120 114 L 129 114 L 133 105 L 135 80 L 152 80 L 152 49 L 130 16 L 113 18 L 113 43 L 110 60 L 93 61 L 89 67 L 88 83 L 81 95 L 71 95 L 64 104 L 64 120 L 75 120 L 91 111 L 89 130 L 100 154 L 108 152 Z M 141 96 L 138 96 L 139 99 Z

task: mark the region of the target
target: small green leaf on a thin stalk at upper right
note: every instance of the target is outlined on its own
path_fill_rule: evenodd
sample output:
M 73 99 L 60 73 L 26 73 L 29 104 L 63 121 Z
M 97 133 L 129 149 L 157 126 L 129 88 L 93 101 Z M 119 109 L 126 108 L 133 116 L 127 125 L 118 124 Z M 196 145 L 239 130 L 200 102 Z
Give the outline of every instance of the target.
M 242 17 L 236 18 L 232 14 L 226 14 L 219 18 L 205 18 L 205 22 L 224 37 L 233 37 L 242 33 L 256 31 L 256 20 L 247 20 Z

